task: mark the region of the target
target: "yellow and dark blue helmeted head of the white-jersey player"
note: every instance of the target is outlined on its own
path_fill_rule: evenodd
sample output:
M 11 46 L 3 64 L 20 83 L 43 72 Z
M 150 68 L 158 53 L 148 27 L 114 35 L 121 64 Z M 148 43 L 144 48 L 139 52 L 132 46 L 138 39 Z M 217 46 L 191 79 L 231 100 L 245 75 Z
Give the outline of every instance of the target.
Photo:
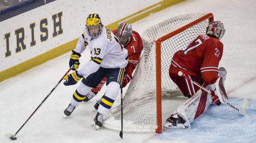
M 90 14 L 86 19 L 86 29 L 92 38 L 96 38 L 102 33 L 102 20 L 98 14 Z M 86 30 L 85 29 L 85 30 Z

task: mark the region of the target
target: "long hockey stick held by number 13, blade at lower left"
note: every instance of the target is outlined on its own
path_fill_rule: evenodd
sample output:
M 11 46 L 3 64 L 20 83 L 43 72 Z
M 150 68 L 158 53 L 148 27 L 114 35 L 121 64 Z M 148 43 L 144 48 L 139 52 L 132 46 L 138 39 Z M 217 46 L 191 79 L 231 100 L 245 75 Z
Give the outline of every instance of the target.
M 27 121 L 18 129 L 18 131 L 15 133 L 15 135 L 9 134 L 7 133 L 5 135 L 6 138 L 10 138 L 12 140 L 16 140 L 17 137 L 15 137 L 21 128 L 23 128 L 23 126 L 28 122 L 28 120 L 32 117 L 32 115 L 34 115 L 34 113 L 36 113 L 36 111 L 39 109 L 39 107 L 43 104 L 43 102 L 51 95 L 51 93 L 53 92 L 53 90 L 60 84 L 60 82 L 63 80 L 63 77 L 66 76 L 66 74 L 68 74 L 70 72 L 70 70 L 73 68 L 73 66 L 71 68 L 69 68 L 69 70 L 61 77 L 61 80 L 54 86 L 54 88 L 51 90 L 51 92 L 46 96 L 46 98 L 43 99 L 43 101 L 40 103 L 40 105 L 37 107 L 37 109 L 29 116 L 29 118 L 27 119 Z

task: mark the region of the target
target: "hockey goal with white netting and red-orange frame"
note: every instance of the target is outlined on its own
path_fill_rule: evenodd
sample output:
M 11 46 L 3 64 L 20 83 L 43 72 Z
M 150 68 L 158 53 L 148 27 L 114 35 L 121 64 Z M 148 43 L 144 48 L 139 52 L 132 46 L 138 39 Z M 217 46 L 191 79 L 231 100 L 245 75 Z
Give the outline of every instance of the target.
M 213 14 L 188 14 L 170 18 L 142 34 L 143 54 L 123 99 L 124 132 L 162 132 L 162 97 L 181 95 L 169 77 L 173 54 L 199 34 L 205 34 Z M 104 127 L 121 130 L 121 106 L 104 119 Z

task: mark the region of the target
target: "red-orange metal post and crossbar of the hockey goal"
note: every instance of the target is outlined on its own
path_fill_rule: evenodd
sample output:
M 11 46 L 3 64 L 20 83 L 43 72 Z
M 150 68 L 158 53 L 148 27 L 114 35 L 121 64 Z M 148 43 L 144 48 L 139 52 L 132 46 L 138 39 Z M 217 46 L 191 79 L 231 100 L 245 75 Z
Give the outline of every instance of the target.
M 188 23 L 186 25 L 184 25 L 183 27 L 165 35 L 162 36 L 161 38 L 159 38 L 157 41 L 155 41 L 155 45 L 156 45 L 156 51 L 155 51 L 155 58 L 156 58 L 156 77 L 157 77 L 157 124 L 158 124 L 158 128 L 155 129 L 156 133 L 162 133 L 162 85 L 161 85 L 161 42 L 167 40 L 168 38 L 181 33 L 182 31 L 193 27 L 194 25 L 196 25 L 197 23 L 204 21 L 204 20 L 209 20 L 210 22 L 214 21 L 214 16 L 212 13 L 209 13 L 191 23 Z

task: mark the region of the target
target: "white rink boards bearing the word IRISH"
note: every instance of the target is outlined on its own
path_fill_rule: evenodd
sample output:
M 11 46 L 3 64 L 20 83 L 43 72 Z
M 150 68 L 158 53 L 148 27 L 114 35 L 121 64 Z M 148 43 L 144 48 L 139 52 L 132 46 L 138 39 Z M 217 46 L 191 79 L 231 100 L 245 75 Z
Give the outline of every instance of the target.
M 79 37 L 85 28 L 88 14 L 99 14 L 103 24 L 107 25 L 158 2 L 160 0 L 59 0 L 2 21 L 0 22 L 0 72 Z M 63 32 L 53 37 L 52 16 L 57 14 L 62 14 L 61 29 Z M 46 23 L 40 24 L 41 21 L 46 20 L 47 25 Z M 58 21 L 59 17 L 57 17 Z M 35 23 L 36 45 L 30 46 L 32 42 L 30 26 L 33 23 Z M 41 42 L 40 35 L 45 37 L 46 33 L 40 30 L 40 25 L 48 31 L 48 38 L 43 42 Z M 24 29 L 24 37 L 21 33 L 15 34 L 15 31 L 22 29 Z M 60 32 L 59 27 L 56 30 Z M 19 38 L 24 38 L 26 49 L 23 49 L 24 47 L 21 47 L 20 43 L 20 48 L 17 48 L 17 35 Z M 7 39 L 9 40 L 9 49 L 7 49 Z

